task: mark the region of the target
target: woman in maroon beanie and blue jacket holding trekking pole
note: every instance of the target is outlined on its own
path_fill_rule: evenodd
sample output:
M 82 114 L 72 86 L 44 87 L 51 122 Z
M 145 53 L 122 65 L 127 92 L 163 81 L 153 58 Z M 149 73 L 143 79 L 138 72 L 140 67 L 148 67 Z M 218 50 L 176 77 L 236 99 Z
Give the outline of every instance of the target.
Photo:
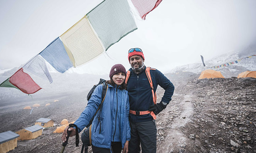
M 106 81 L 108 90 L 105 100 L 101 106 L 100 120 L 98 120 L 99 112 L 94 117 L 91 125 L 92 150 L 94 153 L 123 153 L 128 152 L 128 143 L 130 140 L 129 125 L 129 97 L 125 90 L 126 70 L 122 64 L 114 65 L 109 74 L 110 80 Z M 101 103 L 102 85 L 98 85 L 87 106 L 75 121 L 78 132 L 81 132 L 89 123 L 90 119 L 96 113 Z M 62 134 L 63 142 L 66 141 L 67 129 Z M 75 129 L 71 131 L 70 136 L 75 135 Z

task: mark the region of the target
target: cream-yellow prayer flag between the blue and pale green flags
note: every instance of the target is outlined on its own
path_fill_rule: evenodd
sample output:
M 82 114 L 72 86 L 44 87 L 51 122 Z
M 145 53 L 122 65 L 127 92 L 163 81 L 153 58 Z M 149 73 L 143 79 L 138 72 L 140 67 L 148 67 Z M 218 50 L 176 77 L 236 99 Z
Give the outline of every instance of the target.
M 74 67 L 92 60 L 104 51 L 86 17 L 76 22 L 60 38 Z

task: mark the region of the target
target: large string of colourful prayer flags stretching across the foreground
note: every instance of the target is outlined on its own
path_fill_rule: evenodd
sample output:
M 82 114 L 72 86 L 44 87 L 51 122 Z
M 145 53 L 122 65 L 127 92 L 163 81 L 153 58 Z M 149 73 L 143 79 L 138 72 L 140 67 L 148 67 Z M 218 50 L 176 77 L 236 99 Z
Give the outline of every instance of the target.
M 154 10 L 162 0 L 131 0 L 140 17 Z M 58 72 L 64 73 L 71 67 L 82 65 L 127 34 L 137 30 L 137 25 L 127 0 L 104 0 L 87 13 L 61 36 L 53 40 L 43 51 L 32 57 L 22 68 L 0 84 L 26 94 L 42 89 L 24 70 L 53 82 L 46 62 Z

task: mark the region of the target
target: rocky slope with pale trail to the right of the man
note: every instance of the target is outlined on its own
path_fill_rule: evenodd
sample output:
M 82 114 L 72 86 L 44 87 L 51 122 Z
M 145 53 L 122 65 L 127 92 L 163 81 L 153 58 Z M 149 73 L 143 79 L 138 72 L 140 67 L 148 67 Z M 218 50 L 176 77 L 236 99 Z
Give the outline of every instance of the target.
M 256 79 L 194 80 L 175 91 L 158 115 L 157 152 L 256 152 Z

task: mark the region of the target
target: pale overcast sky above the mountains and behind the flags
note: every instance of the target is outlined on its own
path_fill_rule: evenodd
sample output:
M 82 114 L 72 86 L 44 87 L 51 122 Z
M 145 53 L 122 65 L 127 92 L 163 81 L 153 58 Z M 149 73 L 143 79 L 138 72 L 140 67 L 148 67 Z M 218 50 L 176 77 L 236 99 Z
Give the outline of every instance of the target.
M 0 0 L 0 69 L 25 64 L 67 31 L 101 0 Z M 94 61 L 74 71 L 109 73 L 127 52 L 139 47 L 145 65 L 171 68 L 239 51 L 255 42 L 256 0 L 163 0 L 146 16 L 135 17 L 138 30 Z M 136 13 L 136 11 L 132 11 Z

